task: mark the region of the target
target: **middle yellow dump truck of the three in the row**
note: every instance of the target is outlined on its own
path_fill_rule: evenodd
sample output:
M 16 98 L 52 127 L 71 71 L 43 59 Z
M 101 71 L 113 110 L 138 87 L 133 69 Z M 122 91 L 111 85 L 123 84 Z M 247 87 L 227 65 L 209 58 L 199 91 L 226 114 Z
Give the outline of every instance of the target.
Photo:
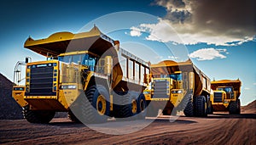
M 148 116 L 162 110 L 164 115 L 207 116 L 210 109 L 211 81 L 189 59 L 186 62 L 165 60 L 151 64 L 148 87 L 143 92 L 148 106 Z

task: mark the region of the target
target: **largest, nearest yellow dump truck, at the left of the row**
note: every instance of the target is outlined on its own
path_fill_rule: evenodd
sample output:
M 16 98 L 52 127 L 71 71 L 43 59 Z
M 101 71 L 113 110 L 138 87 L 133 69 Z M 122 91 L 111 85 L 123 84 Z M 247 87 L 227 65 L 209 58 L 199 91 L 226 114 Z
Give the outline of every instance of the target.
M 15 80 L 26 66 L 25 85 L 13 87 L 13 98 L 32 123 L 48 123 L 55 112 L 68 112 L 73 121 L 101 123 L 108 117 L 144 118 L 143 77 L 148 62 L 119 47 L 96 26 L 73 34 L 58 32 L 48 38 L 29 37 L 24 47 L 46 61 L 18 62 Z M 142 116 L 143 115 L 143 116 Z

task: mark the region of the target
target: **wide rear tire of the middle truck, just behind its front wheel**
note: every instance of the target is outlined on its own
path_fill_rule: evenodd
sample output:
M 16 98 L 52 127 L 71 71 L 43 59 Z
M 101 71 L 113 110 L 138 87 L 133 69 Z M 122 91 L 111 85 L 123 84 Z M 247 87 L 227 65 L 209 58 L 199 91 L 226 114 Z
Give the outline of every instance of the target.
M 207 102 L 204 96 L 195 97 L 195 116 L 206 117 L 207 116 Z

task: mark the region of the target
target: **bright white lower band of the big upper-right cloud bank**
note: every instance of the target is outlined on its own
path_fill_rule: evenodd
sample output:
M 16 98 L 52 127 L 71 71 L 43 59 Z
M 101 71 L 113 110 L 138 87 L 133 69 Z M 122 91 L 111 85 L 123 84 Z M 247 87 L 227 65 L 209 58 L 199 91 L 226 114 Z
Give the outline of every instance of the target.
M 131 27 L 131 36 L 141 36 L 141 32 L 148 32 L 147 40 L 158 42 L 175 42 L 181 44 L 197 44 L 206 42 L 222 46 L 236 46 L 244 42 L 253 41 L 253 37 L 231 37 L 224 34 L 218 34 L 214 31 L 199 31 L 195 25 L 173 24 L 170 20 L 159 18 L 156 24 L 141 24 L 137 27 Z

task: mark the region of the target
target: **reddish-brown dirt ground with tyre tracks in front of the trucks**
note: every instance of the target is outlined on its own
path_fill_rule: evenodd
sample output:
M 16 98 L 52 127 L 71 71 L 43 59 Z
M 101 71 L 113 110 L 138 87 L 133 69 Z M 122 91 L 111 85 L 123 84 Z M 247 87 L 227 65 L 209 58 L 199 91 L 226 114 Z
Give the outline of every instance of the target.
M 150 121 L 153 119 L 146 120 Z M 144 123 L 137 120 L 121 130 Z M 174 122 L 161 116 L 141 131 L 119 136 L 94 131 L 66 118 L 54 119 L 48 125 L 26 120 L 0 120 L 0 125 L 0 144 L 256 144 L 256 114 L 247 112 L 211 114 L 207 118 L 180 116 Z M 109 121 L 102 128 L 111 125 L 116 121 Z

